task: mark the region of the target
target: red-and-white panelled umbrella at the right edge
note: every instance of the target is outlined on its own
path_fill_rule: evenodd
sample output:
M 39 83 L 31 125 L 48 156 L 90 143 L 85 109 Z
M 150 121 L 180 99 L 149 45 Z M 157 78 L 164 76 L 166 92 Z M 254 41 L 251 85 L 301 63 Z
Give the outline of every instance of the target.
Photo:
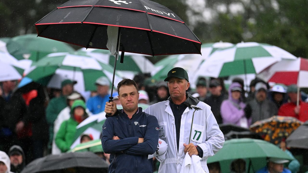
M 308 87 L 308 59 L 282 60 L 262 71 L 257 77 L 266 82 L 297 84 L 298 87 Z

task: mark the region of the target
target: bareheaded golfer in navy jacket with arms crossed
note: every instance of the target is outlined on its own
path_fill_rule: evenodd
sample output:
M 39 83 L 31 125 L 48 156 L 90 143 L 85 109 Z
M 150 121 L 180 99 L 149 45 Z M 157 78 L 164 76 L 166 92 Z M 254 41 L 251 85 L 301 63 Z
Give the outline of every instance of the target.
M 106 119 L 102 131 L 103 150 L 111 154 L 108 172 L 153 172 L 153 160 L 148 155 L 156 151 L 158 121 L 138 107 L 135 81 L 123 79 L 118 84 L 118 93 L 123 109 Z

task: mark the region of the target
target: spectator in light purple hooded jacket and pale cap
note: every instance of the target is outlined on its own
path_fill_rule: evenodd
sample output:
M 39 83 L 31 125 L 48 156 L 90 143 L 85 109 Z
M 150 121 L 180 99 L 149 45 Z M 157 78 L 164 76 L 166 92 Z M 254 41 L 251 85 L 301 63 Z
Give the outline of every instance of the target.
M 234 82 L 229 86 L 229 99 L 221 103 L 220 112 L 224 124 L 235 124 L 237 126 L 248 128 L 251 119 L 245 116 L 246 104 L 241 98 L 243 92 L 241 84 Z

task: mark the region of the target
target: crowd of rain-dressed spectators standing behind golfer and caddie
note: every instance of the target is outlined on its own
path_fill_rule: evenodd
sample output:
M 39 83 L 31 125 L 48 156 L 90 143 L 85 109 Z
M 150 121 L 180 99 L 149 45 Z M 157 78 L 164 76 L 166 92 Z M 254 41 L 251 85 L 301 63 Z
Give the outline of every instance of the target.
M 134 79 L 140 88 L 139 103 L 152 105 L 169 98 L 166 82 L 144 75 L 136 75 Z M 17 88 L 17 81 L 1 82 L 0 150 L 15 158 L 10 161 L 10 171 L 20 172 L 26 163 L 44 155 L 69 151 L 76 126 L 88 116 L 104 111 L 110 97 L 110 82 L 106 77 L 95 81 L 97 90 L 91 91 L 87 100 L 74 91 L 75 84 L 66 79 L 61 82 L 61 90 L 55 90 L 35 83 Z M 307 96 L 301 92 L 297 103 L 295 84 L 270 87 L 254 79 L 249 91 L 244 88 L 240 78 L 234 79 L 228 90 L 222 79 L 200 78 L 196 90 L 189 89 L 189 92 L 211 107 L 218 124 L 248 128 L 273 115 L 292 116 L 302 122 L 308 120 Z M 120 104 L 116 91 L 113 97 L 114 102 Z M 84 134 L 81 142 L 89 140 L 91 136 Z M 8 163 L 0 161 L 0 167 L 1 162 Z

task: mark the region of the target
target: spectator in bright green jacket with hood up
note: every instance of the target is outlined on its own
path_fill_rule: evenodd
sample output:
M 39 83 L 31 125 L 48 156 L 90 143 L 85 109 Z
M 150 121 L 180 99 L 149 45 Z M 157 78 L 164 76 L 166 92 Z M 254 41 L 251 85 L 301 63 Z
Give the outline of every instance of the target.
M 55 138 L 55 143 L 61 152 L 66 152 L 70 149 L 74 143 L 76 127 L 87 117 L 86 104 L 83 100 L 75 100 L 71 107 L 71 118 L 61 124 Z

